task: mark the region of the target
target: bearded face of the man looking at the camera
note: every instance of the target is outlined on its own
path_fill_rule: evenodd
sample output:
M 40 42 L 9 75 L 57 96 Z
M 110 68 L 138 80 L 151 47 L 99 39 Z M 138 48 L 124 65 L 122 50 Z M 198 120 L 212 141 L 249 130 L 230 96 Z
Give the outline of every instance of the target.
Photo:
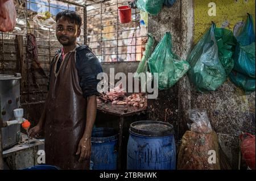
M 77 24 L 69 22 L 61 17 L 56 23 L 56 37 L 63 46 L 69 46 L 76 43 L 77 37 L 80 36 L 80 29 Z

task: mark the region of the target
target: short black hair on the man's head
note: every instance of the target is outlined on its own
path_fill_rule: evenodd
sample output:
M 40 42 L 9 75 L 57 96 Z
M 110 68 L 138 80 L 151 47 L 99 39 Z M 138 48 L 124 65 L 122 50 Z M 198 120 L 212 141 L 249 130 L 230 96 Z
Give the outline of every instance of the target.
M 71 23 L 75 23 L 79 26 L 79 28 L 82 26 L 82 18 L 79 14 L 77 14 L 75 11 L 70 11 L 70 10 L 65 10 L 65 11 L 60 11 L 56 15 L 56 22 L 61 18 L 64 17 Z

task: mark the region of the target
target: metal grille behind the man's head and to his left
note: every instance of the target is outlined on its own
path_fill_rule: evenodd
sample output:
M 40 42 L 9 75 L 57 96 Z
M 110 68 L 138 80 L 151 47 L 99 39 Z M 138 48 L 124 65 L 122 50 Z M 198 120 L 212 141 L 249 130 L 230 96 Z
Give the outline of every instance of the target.
M 32 83 L 31 60 L 27 58 L 26 34 L 33 33 L 38 45 L 38 58 L 44 72 L 49 74 L 49 64 L 56 54 L 56 50 L 61 47 L 55 36 L 55 27 L 46 27 L 35 22 L 35 15 L 39 12 L 49 11 L 53 20 L 55 15 L 61 10 L 75 10 L 84 22 L 84 7 L 76 6 L 72 2 L 54 0 L 15 0 L 17 12 L 16 27 L 12 32 L 0 34 L 0 73 L 13 74 L 19 71 L 19 60 L 17 52 L 16 35 L 23 37 L 23 62 L 26 76 L 22 78 L 24 87 L 21 87 L 22 103 L 36 103 L 46 99 L 48 92 L 48 76 L 42 76 L 35 72 L 34 78 L 37 84 Z M 81 28 L 79 43 L 84 43 L 84 27 Z M 25 78 L 25 79 L 24 79 Z

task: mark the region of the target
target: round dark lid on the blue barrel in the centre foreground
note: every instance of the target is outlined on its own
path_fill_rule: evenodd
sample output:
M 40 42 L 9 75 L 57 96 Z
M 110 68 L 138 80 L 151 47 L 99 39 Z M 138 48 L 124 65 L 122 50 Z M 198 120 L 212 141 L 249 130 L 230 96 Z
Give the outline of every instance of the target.
M 163 137 L 174 134 L 174 126 L 162 121 L 137 121 L 131 123 L 131 133 L 147 137 Z

